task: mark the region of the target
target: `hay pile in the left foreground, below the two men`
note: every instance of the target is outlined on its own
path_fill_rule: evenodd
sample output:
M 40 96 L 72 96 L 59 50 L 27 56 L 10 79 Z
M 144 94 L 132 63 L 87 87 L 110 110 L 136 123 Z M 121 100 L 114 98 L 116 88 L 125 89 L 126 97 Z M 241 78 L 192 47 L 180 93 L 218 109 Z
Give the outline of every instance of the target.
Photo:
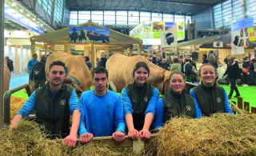
M 5 127 L 0 130 L 0 155 L 134 155 L 132 149 L 113 149 L 102 143 L 78 144 L 69 148 L 62 140 L 50 140 L 46 138 L 44 127 L 35 122 L 22 121 L 13 130 Z

